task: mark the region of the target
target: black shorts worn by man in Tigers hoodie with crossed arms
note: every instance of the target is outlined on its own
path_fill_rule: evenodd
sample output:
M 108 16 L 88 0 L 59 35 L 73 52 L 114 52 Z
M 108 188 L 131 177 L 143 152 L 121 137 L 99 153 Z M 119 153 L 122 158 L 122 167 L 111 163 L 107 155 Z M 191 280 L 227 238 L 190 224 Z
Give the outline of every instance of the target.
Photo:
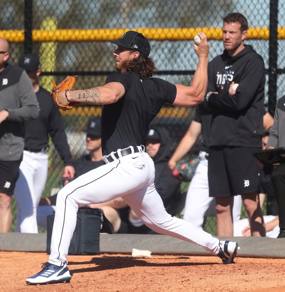
M 210 197 L 228 197 L 259 191 L 261 168 L 254 147 L 215 147 L 208 157 Z

